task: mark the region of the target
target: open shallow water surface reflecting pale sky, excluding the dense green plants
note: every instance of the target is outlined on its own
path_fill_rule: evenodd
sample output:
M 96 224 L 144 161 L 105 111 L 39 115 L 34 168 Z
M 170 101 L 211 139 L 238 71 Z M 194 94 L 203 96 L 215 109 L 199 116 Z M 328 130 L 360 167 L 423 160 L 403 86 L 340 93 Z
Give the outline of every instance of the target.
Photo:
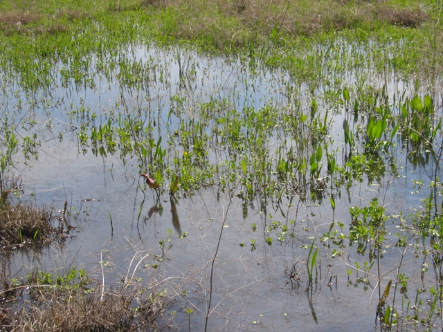
M 191 192 L 180 190 L 173 201 L 167 192 L 157 199 L 139 176 L 141 162 L 137 158 L 127 156 L 123 161 L 118 154 L 94 156 L 89 150 L 79 153 L 76 134 L 81 121 L 75 116 L 69 118 L 69 111 L 80 107 L 90 109 L 97 113 L 96 123 L 105 124 L 109 113 L 124 112 L 118 105 L 125 103 L 129 109 L 133 107 L 134 112 L 152 110 L 159 121 L 155 126 L 156 135 L 171 135 L 180 130 L 183 118 L 198 120 L 199 113 L 193 109 L 196 102 L 232 98 L 239 111 L 243 107 L 260 109 L 269 100 L 275 104 L 287 103 L 290 98 L 284 91 L 284 83 L 290 80 L 278 71 L 251 73 L 251 68 L 242 62 L 206 59 L 192 51 L 170 50 L 168 53 L 138 47 L 127 59 L 129 63 L 141 62 L 155 68 L 152 75 L 157 78 L 147 80 L 145 86 L 138 88 L 123 87 L 116 77 L 110 82 L 100 78 L 93 89 L 80 89 L 79 93 L 59 84 L 50 96 L 43 96 L 31 107 L 35 128 L 44 140 L 38 148 L 38 160 L 31 158 L 28 165 L 24 165 L 21 156 L 17 156 L 19 164 L 15 174 L 24 183 L 21 199 L 35 200 L 38 204 L 53 203 L 56 211 L 62 210 L 68 201 L 69 219 L 76 228 L 63 246 L 44 249 L 37 259 L 16 252 L 9 262 L 11 274 L 19 270 L 26 275 L 26 269 L 20 270 L 22 266 L 62 270 L 74 264 L 86 267 L 93 277 L 100 279 L 101 261 L 107 262 L 105 279 L 107 284 L 112 284 L 131 274 L 135 262 L 149 253 L 134 275 L 147 281 L 154 278 L 170 290 L 175 301 L 168 317 L 174 318 L 178 329 L 188 326 L 184 310 L 194 308 L 195 313 L 190 316 L 191 329 L 201 331 L 208 305 L 210 263 L 222 231 L 215 261 L 210 331 L 354 331 L 355 326 L 361 331 L 373 331 L 379 297 L 378 272 L 374 266 L 365 275 L 362 268 L 355 269 L 354 263 L 357 261 L 363 266 L 363 262 L 368 261 L 369 248 L 359 254 L 356 243 L 351 246 L 349 239 L 345 239 L 341 256 L 332 258 L 332 250 L 339 247 L 331 241 L 329 248 L 328 242 L 316 242 L 321 257 L 318 278 L 314 286 L 308 287 L 309 246 L 314 238 L 329 231 L 332 222 L 338 231 L 337 222 L 343 223 L 343 232 L 347 233 L 350 206 L 368 205 L 373 197 L 385 198 L 388 214 L 408 213 L 419 208 L 420 199 L 427 193 L 416 192 L 412 180 L 430 180 L 428 169 L 414 169 L 404 152 L 399 151 L 397 160 L 403 167 L 399 169 L 399 176 L 386 172 L 379 183 L 370 183 L 364 176 L 361 183 L 352 185 L 349 194 L 341 190 L 341 199 L 338 196 L 335 199 L 335 210 L 327 197 L 320 203 L 300 200 L 298 196 L 292 199 L 282 196 L 281 201 L 276 201 L 265 195 L 244 201 L 232 195 L 239 194 L 239 190 L 230 183 L 226 188 L 213 185 Z M 354 80 L 350 75 L 350 81 Z M 388 86 L 396 93 L 399 85 Z M 300 96 L 304 93 L 300 92 Z M 170 109 L 174 108 L 177 96 L 186 100 L 183 113 L 171 116 Z M 8 107 L 3 111 L 19 109 L 17 99 L 12 95 L 8 98 Z M 46 106 L 44 100 L 48 101 Z M 304 107 L 307 109 L 307 105 Z M 24 109 L 26 107 L 21 111 Z M 332 116 L 329 132 L 336 139 L 334 148 L 343 147 L 344 117 L 343 113 Z M 51 131 L 47 129 L 48 120 L 53 125 Z M 63 133 L 62 140 L 58 139 L 58 132 Z M 399 140 L 398 143 L 400 147 Z M 273 151 L 278 147 L 278 139 L 271 138 L 266 147 Z M 343 159 L 344 149 L 341 150 Z M 223 152 L 217 154 L 222 155 Z M 210 160 L 216 160 L 217 156 L 211 154 Z M 275 221 L 289 228 L 282 241 L 278 240 L 281 228 L 273 228 Z M 397 237 L 393 234 L 399 232 L 397 225 L 395 219 L 386 222 L 386 251 L 380 265 L 381 293 L 388 280 L 395 279 L 396 267 L 404 264 L 401 272 L 410 276 L 412 286 L 408 291 L 413 298 L 415 289 L 420 287 L 419 266 L 424 258 L 416 258 L 413 250 L 407 250 L 401 260 L 404 249 L 394 246 Z M 269 237 L 273 239 L 272 245 L 266 242 Z M 255 241 L 254 246 L 251 240 Z M 163 250 L 161 241 L 165 243 Z M 136 259 L 132 261 L 134 255 Z M 154 255 L 165 255 L 165 258 L 159 261 Z M 159 268 L 152 268 L 152 264 L 158 264 Z M 295 278 L 291 281 L 288 271 L 294 264 Z M 348 269 L 352 272 L 350 275 Z M 361 277 L 365 280 L 359 279 Z M 432 280 L 432 273 L 424 279 Z M 186 297 L 179 296 L 183 289 Z M 402 300 L 397 296 L 395 307 L 401 312 Z

